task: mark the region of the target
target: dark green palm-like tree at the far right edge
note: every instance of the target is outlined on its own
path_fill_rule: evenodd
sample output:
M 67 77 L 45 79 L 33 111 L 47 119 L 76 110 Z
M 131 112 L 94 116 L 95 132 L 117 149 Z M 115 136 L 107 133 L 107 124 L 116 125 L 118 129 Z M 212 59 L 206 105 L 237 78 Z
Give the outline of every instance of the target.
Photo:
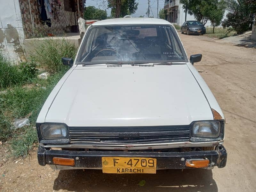
M 255 12 L 252 12 L 252 4 L 246 0 L 226 0 L 225 2 L 228 14 L 226 15 L 227 19 L 222 21 L 222 26 L 232 26 L 238 34 L 250 30 L 255 17 Z

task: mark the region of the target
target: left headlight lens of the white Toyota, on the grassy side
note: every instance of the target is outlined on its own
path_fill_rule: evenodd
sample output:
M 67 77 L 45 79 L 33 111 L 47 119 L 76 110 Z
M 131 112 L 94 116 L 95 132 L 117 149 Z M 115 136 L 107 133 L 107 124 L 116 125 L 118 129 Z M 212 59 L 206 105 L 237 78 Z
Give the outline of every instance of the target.
M 45 140 L 68 138 L 68 130 L 65 124 L 41 124 L 40 129 Z

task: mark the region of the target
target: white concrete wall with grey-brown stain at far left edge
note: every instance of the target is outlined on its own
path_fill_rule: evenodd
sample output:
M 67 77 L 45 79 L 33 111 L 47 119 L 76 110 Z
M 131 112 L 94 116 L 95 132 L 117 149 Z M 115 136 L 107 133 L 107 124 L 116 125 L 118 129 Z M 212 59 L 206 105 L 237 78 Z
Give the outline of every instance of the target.
M 0 0 L 0 50 L 6 57 L 25 60 L 19 0 Z

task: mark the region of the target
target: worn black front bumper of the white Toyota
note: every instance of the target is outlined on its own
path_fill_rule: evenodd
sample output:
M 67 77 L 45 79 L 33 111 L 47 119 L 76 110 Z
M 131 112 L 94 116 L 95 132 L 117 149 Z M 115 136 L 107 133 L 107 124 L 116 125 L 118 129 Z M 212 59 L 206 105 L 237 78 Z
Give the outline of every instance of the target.
M 213 166 L 223 168 L 227 162 L 227 151 L 222 145 L 219 150 L 190 152 L 70 151 L 50 150 L 39 146 L 37 152 L 38 163 L 42 166 L 46 164 L 54 166 L 52 158 L 62 157 L 74 159 L 75 165 L 69 167 L 74 169 L 101 169 L 101 157 L 104 156 L 156 158 L 156 169 L 189 169 L 190 167 L 185 165 L 187 159 L 209 159 L 208 168 Z

